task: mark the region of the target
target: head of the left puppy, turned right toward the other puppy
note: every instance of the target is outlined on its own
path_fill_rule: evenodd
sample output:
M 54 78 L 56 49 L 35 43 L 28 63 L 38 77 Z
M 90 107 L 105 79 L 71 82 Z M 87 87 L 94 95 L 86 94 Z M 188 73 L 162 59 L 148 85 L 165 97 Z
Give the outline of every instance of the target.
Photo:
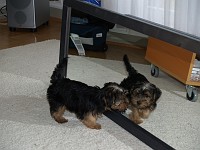
M 128 91 L 114 82 L 106 83 L 103 87 L 104 102 L 107 110 L 125 111 L 128 107 Z

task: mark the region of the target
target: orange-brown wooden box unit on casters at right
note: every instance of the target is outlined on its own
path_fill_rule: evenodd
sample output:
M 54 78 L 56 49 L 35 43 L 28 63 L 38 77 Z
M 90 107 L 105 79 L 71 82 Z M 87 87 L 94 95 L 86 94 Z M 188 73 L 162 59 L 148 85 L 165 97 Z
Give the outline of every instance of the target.
M 192 101 L 196 101 L 198 95 L 193 86 L 200 86 L 199 81 L 191 80 L 195 58 L 196 53 L 152 37 L 148 39 L 145 59 L 182 83 L 190 85 L 186 86 L 186 90 L 187 98 Z

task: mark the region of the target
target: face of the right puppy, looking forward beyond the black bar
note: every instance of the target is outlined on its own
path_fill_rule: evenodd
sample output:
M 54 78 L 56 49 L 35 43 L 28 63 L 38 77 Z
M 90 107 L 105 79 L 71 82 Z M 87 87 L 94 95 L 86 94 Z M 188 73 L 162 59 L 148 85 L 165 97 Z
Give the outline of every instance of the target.
M 151 112 L 156 108 L 161 94 L 161 90 L 152 83 L 136 83 L 130 90 L 130 103 L 137 109 Z

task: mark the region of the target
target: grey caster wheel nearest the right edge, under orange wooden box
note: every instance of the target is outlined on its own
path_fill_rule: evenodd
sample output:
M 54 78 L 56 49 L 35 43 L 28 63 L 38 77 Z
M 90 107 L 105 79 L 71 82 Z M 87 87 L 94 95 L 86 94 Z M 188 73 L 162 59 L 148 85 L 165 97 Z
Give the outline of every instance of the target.
M 198 99 L 198 92 L 196 88 L 188 85 L 186 86 L 186 90 L 187 90 L 187 93 L 186 93 L 187 99 L 191 102 L 196 102 Z

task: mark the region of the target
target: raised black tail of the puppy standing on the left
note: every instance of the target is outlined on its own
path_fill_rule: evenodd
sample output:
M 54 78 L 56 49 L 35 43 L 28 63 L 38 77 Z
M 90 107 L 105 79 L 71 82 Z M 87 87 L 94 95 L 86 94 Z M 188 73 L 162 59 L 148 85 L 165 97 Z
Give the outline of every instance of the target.
M 64 58 L 59 64 L 56 65 L 53 74 L 51 75 L 50 83 L 54 83 L 58 79 L 64 78 L 64 67 L 67 65 L 67 58 Z

